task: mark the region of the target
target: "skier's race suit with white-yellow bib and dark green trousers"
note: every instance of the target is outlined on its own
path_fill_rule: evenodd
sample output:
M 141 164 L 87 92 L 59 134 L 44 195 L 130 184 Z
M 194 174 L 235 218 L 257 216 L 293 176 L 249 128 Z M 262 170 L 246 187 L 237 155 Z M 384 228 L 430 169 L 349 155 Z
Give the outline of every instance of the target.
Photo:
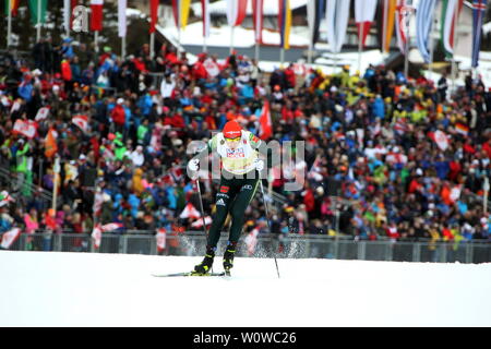
M 255 159 L 259 154 L 263 154 L 266 157 L 265 164 L 273 163 L 265 142 L 249 131 L 242 131 L 240 144 L 235 149 L 227 146 L 223 133 L 217 133 L 208 141 L 207 149 L 197 155 L 197 158 L 203 160 L 205 155 L 215 152 L 221 158 L 221 177 L 215 201 L 216 212 L 207 237 L 208 249 L 216 249 L 221 228 L 229 213 L 231 227 L 228 243 L 237 244 L 242 231 L 246 209 L 260 184 Z

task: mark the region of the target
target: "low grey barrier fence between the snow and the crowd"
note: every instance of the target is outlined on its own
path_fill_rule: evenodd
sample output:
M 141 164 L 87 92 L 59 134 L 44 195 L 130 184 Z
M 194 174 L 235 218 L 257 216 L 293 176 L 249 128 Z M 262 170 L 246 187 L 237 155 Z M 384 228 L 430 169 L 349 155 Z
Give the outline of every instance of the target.
M 218 253 L 224 251 L 226 234 L 223 234 Z M 125 233 L 103 233 L 98 249 L 95 249 L 89 233 L 21 233 L 10 250 L 15 251 L 58 251 L 98 252 L 148 255 L 204 254 L 203 233 L 168 233 L 164 250 L 157 249 L 154 232 L 132 231 Z M 396 262 L 440 262 L 440 263 L 486 263 L 491 262 L 491 243 L 483 241 L 355 241 L 351 237 L 327 236 L 277 236 L 262 234 L 254 251 L 248 251 L 243 237 L 237 256 L 278 258 L 333 258 L 360 261 Z

